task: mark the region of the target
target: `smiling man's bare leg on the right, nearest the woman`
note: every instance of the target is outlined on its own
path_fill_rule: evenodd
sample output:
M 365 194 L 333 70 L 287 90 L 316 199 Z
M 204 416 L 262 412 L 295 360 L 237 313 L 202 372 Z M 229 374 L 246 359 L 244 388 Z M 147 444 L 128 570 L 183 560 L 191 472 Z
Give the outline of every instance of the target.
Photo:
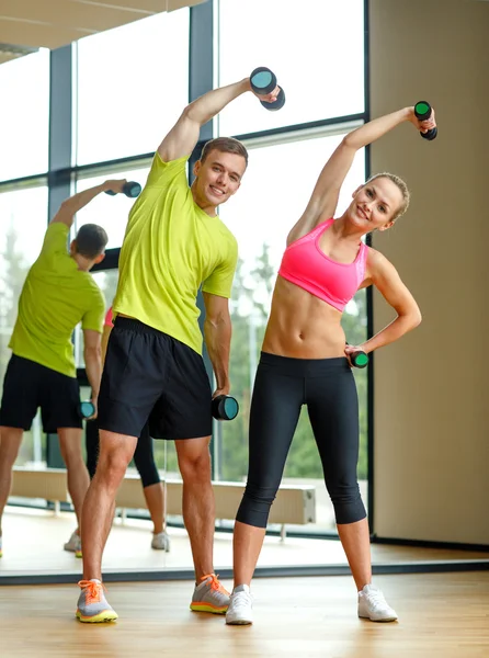
M 211 484 L 211 436 L 175 441 L 183 479 L 183 521 L 192 547 L 195 578 L 214 572 L 214 491 Z

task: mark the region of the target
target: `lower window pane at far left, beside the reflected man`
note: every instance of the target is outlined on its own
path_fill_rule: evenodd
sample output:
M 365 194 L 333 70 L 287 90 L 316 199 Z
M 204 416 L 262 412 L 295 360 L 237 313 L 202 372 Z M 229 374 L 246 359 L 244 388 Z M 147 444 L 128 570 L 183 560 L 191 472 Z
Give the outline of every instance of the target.
M 0 396 L 11 355 L 8 345 L 18 315 L 19 296 L 29 269 L 41 251 L 46 227 L 47 188 L 0 193 Z M 36 418 L 32 430 L 24 433 L 15 465 L 43 462 L 45 449 Z

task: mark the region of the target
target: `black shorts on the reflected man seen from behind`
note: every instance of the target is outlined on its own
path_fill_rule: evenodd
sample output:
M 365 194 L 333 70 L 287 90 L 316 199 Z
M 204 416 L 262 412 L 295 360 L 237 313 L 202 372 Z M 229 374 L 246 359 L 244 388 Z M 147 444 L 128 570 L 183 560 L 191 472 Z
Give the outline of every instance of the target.
M 80 387 L 75 377 L 12 354 L 3 379 L 0 426 L 29 430 L 41 407 L 45 432 L 81 429 L 79 406 Z

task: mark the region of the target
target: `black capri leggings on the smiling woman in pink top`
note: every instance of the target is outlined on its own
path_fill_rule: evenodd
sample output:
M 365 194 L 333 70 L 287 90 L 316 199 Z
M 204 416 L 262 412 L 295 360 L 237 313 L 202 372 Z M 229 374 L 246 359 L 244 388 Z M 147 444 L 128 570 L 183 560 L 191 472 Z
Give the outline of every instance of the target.
M 250 411 L 248 483 L 237 521 L 266 527 L 303 405 L 337 523 L 366 517 L 356 480 L 359 398 L 346 359 L 291 359 L 262 352 Z

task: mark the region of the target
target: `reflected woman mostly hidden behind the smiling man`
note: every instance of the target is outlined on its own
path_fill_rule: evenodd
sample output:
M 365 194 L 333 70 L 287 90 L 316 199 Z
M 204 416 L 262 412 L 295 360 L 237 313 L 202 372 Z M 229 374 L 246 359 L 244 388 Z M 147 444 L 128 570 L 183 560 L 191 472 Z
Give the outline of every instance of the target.
M 109 337 L 112 331 L 112 308 L 105 316 L 105 322 L 102 334 L 102 362 L 105 361 Z M 90 478 L 95 475 L 96 462 L 99 458 L 99 426 L 96 420 L 87 422 L 86 430 L 87 445 L 87 468 Z M 155 464 L 152 451 L 152 439 L 149 434 L 148 426 L 143 428 L 141 434 L 134 452 L 134 463 L 141 478 L 143 492 L 146 504 L 153 524 L 151 548 L 156 551 L 170 551 L 170 537 L 164 529 L 164 497 L 163 486 L 160 480 L 158 468 Z M 78 553 L 77 553 L 78 555 Z

